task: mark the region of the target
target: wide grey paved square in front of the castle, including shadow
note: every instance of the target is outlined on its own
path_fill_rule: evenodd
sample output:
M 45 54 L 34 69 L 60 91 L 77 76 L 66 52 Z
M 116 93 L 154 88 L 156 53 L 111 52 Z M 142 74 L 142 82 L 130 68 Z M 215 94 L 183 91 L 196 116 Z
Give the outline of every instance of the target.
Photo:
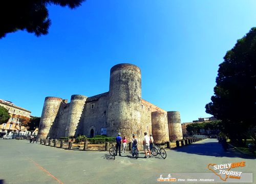
M 207 139 L 178 150 L 167 150 L 167 158 L 138 159 L 129 153 L 108 159 L 108 152 L 72 151 L 28 141 L 0 140 L 0 183 L 161 183 L 168 173 L 208 173 L 209 163 L 246 162 L 241 172 L 252 172 L 256 160 L 229 150 L 217 140 Z M 163 182 L 162 182 L 163 183 Z

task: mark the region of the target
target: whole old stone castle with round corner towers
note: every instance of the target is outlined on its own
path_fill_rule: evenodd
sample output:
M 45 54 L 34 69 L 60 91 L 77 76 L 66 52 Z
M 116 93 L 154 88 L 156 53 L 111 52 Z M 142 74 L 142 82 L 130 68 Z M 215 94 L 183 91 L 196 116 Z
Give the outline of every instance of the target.
M 84 134 L 125 136 L 136 134 L 142 142 L 144 132 L 152 133 L 156 143 L 182 139 L 180 113 L 165 111 L 141 99 L 141 72 L 133 64 L 117 64 L 110 71 L 108 92 L 86 97 L 72 95 L 71 101 L 46 97 L 38 138 Z

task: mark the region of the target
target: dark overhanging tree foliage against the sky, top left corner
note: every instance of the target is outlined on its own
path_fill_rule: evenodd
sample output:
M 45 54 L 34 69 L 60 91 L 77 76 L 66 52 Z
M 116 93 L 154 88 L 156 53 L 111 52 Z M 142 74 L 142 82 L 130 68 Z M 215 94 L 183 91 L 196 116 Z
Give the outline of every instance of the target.
M 54 4 L 71 9 L 79 7 L 84 0 L 26 0 L 1 1 L 0 38 L 6 33 L 27 30 L 36 36 L 48 34 L 51 20 L 47 6 Z

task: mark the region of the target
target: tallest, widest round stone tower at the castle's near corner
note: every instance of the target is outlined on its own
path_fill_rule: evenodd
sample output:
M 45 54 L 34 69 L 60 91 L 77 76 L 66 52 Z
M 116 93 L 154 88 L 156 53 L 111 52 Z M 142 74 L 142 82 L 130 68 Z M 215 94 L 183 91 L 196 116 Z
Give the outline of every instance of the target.
M 141 141 L 141 72 L 133 64 L 117 64 L 110 71 L 107 135 L 126 136 L 135 133 Z M 144 135 L 143 135 L 144 136 Z

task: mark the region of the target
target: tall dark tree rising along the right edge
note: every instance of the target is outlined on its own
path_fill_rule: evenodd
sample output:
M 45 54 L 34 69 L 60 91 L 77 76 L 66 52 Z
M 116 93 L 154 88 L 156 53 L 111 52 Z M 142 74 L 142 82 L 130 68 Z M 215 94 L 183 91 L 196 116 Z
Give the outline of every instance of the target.
M 244 134 L 256 123 L 256 28 L 252 28 L 219 65 L 215 95 L 206 112 L 222 120 L 222 131 L 243 144 Z

